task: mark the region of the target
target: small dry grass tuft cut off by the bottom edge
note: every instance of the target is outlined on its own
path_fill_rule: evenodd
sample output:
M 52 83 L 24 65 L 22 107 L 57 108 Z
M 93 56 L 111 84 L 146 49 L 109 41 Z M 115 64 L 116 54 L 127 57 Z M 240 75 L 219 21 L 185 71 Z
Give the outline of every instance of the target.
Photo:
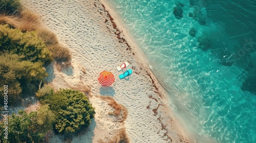
M 109 141 L 110 143 L 129 143 L 130 138 L 127 136 L 125 128 L 121 128 L 117 135 Z

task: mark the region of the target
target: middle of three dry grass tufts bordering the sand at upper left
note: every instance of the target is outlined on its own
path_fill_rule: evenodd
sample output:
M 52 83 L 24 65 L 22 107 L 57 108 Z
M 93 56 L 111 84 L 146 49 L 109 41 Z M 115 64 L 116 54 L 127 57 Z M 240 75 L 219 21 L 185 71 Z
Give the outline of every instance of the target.
M 37 30 L 37 36 L 40 37 L 46 43 L 46 45 L 53 45 L 58 43 L 56 34 L 44 27 Z

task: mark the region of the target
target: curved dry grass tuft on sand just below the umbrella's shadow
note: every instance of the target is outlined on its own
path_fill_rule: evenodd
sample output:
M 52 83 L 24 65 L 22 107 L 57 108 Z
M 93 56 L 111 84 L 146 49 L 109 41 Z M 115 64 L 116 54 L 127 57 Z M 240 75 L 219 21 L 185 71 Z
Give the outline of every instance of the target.
M 119 116 L 120 114 L 122 115 L 122 120 L 119 121 L 120 123 L 122 123 L 126 120 L 127 115 L 128 115 L 128 111 L 123 105 L 118 104 L 116 102 L 116 100 L 112 97 L 100 96 L 100 99 L 105 100 L 106 102 L 108 102 L 108 104 L 110 106 L 112 106 L 115 109 L 114 112 L 110 112 L 109 114 L 112 114 L 112 115 L 115 115 L 115 116 Z

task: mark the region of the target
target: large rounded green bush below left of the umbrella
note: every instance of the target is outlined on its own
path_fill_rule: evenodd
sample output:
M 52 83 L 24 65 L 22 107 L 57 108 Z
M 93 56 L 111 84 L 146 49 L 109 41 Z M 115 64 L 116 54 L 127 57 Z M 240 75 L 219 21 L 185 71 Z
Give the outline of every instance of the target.
M 80 91 L 61 89 L 41 98 L 41 103 L 49 104 L 56 114 L 54 129 L 58 133 L 73 133 L 86 128 L 94 117 L 95 108 Z

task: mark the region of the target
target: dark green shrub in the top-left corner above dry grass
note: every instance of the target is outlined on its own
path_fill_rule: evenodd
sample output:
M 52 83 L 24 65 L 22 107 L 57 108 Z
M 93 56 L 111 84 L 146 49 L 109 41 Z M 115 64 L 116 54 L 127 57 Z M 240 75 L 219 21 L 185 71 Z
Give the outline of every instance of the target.
M 0 14 L 18 14 L 22 10 L 20 0 L 0 0 Z

